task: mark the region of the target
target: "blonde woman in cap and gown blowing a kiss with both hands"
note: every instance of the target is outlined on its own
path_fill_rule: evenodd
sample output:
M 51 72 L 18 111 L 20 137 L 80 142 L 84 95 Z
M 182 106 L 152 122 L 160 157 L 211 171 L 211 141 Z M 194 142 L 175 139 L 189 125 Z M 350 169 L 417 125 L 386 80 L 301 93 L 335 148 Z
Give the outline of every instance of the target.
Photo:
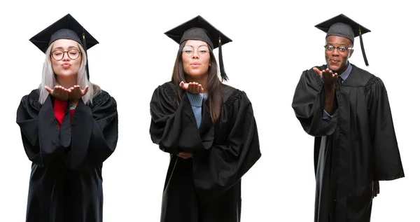
M 116 148 L 118 113 L 89 81 L 86 50 L 98 42 L 71 15 L 30 41 L 45 63 L 16 120 L 32 162 L 27 221 L 102 221 L 102 162 Z

